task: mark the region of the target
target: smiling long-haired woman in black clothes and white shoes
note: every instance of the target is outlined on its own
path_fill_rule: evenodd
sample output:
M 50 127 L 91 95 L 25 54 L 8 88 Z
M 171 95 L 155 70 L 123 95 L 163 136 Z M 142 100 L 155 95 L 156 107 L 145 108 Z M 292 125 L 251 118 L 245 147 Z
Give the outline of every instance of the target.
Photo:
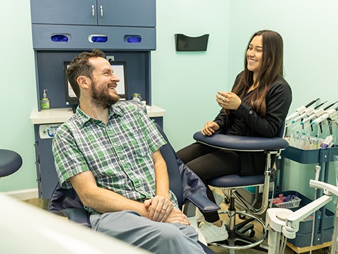
M 238 74 L 231 92 L 217 92 L 222 108 L 213 121 L 202 128 L 203 135 L 223 133 L 255 137 L 274 137 L 283 124 L 292 101 L 292 91 L 283 78 L 283 39 L 274 31 L 258 31 L 247 46 L 244 71 Z M 199 178 L 207 180 L 232 173 L 256 175 L 265 169 L 265 155 L 215 149 L 195 143 L 177 152 L 179 158 Z M 208 198 L 215 202 L 211 189 Z M 202 231 L 206 242 L 228 237 L 224 221 L 217 212 L 203 213 Z

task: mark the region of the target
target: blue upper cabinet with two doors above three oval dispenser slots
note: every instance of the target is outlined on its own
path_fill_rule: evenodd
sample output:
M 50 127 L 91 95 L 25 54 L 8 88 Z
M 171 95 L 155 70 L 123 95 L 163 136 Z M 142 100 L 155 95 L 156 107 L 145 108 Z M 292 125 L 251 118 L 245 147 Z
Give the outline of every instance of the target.
M 155 0 L 30 0 L 30 9 L 35 50 L 156 49 Z

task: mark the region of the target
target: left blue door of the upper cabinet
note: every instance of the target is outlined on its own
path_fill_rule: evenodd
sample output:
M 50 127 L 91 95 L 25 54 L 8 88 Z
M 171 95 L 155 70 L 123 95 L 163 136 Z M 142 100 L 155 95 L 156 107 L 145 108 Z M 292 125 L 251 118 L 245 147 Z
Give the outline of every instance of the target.
M 33 24 L 96 25 L 96 0 L 30 0 Z

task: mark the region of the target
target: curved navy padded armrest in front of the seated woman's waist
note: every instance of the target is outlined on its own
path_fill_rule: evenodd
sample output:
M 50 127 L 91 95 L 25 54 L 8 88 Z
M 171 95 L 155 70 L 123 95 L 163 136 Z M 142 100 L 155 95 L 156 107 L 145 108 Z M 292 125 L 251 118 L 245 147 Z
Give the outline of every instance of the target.
M 202 144 L 219 149 L 233 151 L 274 151 L 286 149 L 289 144 L 282 137 L 247 137 L 215 133 L 211 136 L 203 135 L 200 131 L 193 138 Z

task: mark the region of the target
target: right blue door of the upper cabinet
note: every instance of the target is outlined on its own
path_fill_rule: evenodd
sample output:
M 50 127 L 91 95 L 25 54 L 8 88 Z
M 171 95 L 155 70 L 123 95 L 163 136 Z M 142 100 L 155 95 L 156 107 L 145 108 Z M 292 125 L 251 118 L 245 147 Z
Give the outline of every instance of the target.
M 103 26 L 156 26 L 155 0 L 98 0 L 98 24 Z

